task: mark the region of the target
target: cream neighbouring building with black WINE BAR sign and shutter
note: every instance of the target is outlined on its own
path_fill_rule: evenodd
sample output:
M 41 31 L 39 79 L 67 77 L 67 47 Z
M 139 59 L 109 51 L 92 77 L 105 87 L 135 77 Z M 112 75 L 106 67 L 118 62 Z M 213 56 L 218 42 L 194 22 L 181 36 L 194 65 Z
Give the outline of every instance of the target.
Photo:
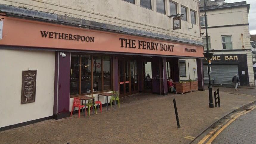
M 204 2 L 200 3 L 200 23 L 206 51 Z M 246 1 L 224 3 L 219 7 L 207 1 L 207 24 L 211 59 L 211 79 L 216 85 L 232 85 L 237 74 L 243 86 L 255 86 L 250 45 L 248 12 Z M 204 62 L 204 79 L 208 84 L 207 60 Z

